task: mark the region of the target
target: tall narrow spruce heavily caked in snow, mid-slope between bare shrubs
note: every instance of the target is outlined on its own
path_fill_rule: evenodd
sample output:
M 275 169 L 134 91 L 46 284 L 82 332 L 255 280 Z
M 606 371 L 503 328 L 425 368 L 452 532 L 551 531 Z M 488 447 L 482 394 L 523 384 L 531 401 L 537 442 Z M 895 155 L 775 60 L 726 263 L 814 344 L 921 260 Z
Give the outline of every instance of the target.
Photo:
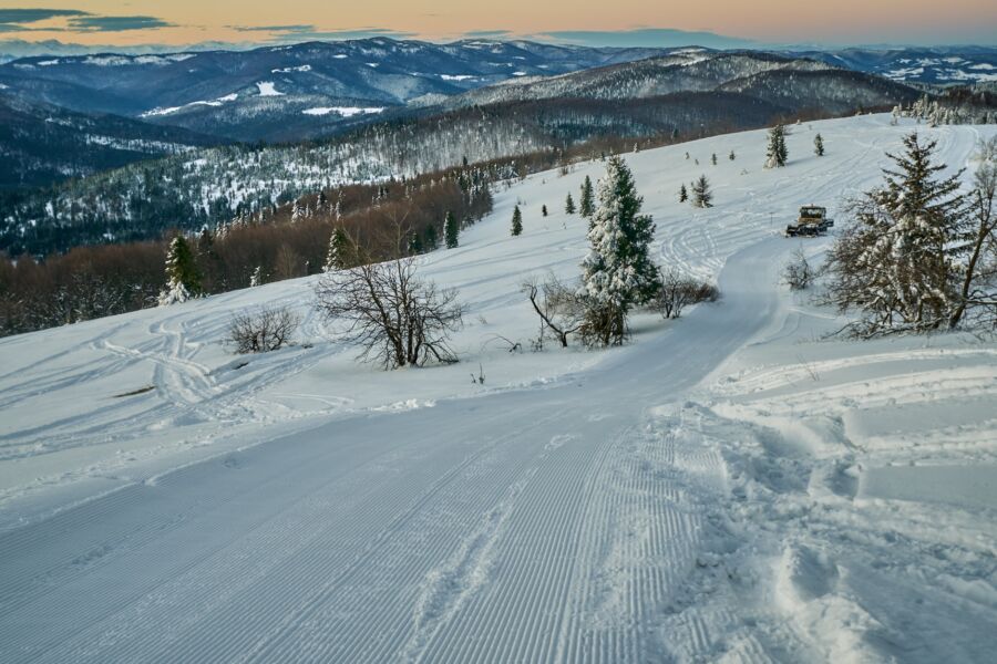
M 619 345 L 627 314 L 660 288 L 649 246 L 655 224 L 640 214 L 644 199 L 620 157 L 609 158 L 598 185 L 598 207 L 588 231 L 590 250 L 582 261 L 579 297 L 585 301 L 583 339 L 588 345 Z

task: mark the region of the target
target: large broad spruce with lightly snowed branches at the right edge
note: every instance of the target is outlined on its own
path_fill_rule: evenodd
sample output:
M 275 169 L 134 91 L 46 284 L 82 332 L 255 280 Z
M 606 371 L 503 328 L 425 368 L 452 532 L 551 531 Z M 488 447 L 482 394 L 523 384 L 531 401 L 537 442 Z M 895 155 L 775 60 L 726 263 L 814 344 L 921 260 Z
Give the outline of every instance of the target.
M 958 301 L 967 242 L 959 175 L 932 162 L 935 142 L 904 137 L 904 153 L 888 155 L 894 170 L 852 205 L 856 224 L 831 249 L 828 297 L 860 318 L 843 332 L 868 339 L 928 332 L 946 325 Z

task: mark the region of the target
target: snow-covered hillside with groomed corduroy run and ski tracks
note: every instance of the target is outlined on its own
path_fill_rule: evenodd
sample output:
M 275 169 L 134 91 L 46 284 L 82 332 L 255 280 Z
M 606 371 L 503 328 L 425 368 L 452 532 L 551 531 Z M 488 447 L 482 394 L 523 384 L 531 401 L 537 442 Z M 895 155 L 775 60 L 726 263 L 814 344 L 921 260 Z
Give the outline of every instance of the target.
M 722 298 L 620 349 L 530 352 L 520 291 L 578 274 L 598 160 L 421 259 L 456 365 L 357 363 L 314 278 L 0 340 L 0 661 L 993 661 L 997 344 L 826 339 L 780 284 L 833 240 L 783 238 L 799 207 L 840 228 L 915 125 L 790 128 L 780 169 L 764 132 L 626 155 L 657 260 Z M 967 178 L 995 131 L 916 128 Z M 296 345 L 234 355 L 260 304 Z

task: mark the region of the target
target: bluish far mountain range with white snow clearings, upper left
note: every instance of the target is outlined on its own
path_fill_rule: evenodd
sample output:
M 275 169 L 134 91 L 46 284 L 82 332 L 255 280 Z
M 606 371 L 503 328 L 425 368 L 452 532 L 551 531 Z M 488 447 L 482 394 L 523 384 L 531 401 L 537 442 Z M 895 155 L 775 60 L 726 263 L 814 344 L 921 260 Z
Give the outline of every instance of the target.
M 379 38 L 251 51 L 23 58 L 0 65 L 0 84 L 76 112 L 114 113 L 226 139 L 289 141 L 329 133 L 413 100 L 661 52 Z

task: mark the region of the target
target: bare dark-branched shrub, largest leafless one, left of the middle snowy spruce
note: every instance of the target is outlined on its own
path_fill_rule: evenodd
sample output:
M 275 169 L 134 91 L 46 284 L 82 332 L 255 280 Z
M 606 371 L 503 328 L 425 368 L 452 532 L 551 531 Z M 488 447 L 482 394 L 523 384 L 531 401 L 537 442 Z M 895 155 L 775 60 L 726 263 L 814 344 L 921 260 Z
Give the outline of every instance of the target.
M 316 286 L 318 308 L 348 323 L 347 339 L 360 360 L 383 369 L 458 361 L 449 334 L 463 325 L 456 291 L 419 278 L 414 258 L 329 272 Z

